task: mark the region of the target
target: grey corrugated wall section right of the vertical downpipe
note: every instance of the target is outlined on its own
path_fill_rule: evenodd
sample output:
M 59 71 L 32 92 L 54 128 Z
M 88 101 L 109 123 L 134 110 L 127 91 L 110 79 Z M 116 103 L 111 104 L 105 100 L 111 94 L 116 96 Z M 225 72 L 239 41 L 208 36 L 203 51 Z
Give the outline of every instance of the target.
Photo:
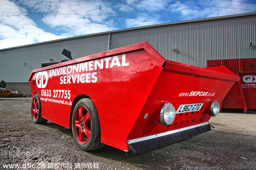
M 256 45 L 255 23 L 254 15 L 116 32 L 111 48 L 147 41 L 168 60 L 206 67 L 207 60 L 255 58 L 248 45 Z

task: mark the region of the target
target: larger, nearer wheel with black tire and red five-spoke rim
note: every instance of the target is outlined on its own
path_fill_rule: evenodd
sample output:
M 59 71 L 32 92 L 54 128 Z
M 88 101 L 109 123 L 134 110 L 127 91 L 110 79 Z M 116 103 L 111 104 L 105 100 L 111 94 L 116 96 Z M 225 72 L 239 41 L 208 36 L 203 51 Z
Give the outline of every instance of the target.
M 99 115 L 91 99 L 84 98 L 76 103 L 72 115 L 72 132 L 77 146 L 84 151 L 96 150 L 104 146 L 100 142 Z

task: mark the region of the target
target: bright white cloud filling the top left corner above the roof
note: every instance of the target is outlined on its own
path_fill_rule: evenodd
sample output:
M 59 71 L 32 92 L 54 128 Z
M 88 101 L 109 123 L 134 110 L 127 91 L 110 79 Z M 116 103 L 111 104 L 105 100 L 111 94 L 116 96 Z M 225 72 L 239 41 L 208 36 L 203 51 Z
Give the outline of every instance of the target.
M 24 12 L 25 10 L 14 2 L 1 0 L 0 11 Z M 65 37 L 56 36 L 37 28 L 33 20 L 20 13 L 1 13 L 0 35 L 1 49 Z

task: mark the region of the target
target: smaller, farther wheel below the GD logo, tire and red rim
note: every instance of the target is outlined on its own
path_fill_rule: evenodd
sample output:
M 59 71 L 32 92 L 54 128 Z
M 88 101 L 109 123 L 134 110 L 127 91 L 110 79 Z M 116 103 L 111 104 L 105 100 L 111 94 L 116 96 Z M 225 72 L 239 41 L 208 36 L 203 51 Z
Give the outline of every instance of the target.
M 33 122 L 36 124 L 43 124 L 48 121 L 48 120 L 42 118 L 41 100 L 40 100 L 40 96 L 38 93 L 35 93 L 32 98 L 31 117 L 32 117 Z

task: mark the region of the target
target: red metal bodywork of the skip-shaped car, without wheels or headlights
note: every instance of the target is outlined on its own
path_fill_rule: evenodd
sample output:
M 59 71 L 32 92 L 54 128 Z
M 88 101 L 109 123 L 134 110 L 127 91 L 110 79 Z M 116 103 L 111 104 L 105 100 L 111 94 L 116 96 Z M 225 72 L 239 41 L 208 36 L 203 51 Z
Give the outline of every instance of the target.
M 33 70 L 29 81 L 32 94 L 40 96 L 43 118 L 69 128 L 76 98 L 86 95 L 98 111 L 101 142 L 128 151 L 130 139 L 208 122 L 211 102 L 221 102 L 239 78 L 224 67 L 165 60 L 143 42 Z M 176 110 L 202 107 L 177 115 L 167 128 L 159 124 L 165 102 Z

